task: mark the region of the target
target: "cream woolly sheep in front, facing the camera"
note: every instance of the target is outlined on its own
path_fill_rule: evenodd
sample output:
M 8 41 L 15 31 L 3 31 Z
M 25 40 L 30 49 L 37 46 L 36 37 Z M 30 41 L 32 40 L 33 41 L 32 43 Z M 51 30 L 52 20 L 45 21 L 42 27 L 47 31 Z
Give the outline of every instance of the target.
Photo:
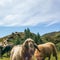
M 28 38 L 22 45 L 13 47 L 11 50 L 10 60 L 31 60 L 34 55 L 35 48 L 38 49 L 34 40 Z

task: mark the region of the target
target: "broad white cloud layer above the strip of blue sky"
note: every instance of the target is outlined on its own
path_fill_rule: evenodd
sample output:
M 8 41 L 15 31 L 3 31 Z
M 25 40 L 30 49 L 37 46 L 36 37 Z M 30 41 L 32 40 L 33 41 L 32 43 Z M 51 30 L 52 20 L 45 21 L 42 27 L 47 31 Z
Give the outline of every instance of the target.
M 0 0 L 0 26 L 46 26 L 60 22 L 59 0 Z

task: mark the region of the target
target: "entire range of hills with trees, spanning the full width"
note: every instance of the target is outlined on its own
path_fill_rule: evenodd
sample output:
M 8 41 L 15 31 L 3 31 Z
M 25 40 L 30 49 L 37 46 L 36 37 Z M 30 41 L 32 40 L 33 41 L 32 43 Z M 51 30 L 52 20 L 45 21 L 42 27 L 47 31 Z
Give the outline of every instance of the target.
M 0 38 L 0 42 L 7 39 L 14 44 L 22 44 L 24 40 L 29 37 L 34 39 L 37 44 L 53 42 L 58 47 L 58 50 L 60 50 L 60 31 L 50 32 L 40 36 L 39 33 L 35 34 L 30 32 L 29 29 L 25 29 L 24 32 L 13 32 L 10 35 Z

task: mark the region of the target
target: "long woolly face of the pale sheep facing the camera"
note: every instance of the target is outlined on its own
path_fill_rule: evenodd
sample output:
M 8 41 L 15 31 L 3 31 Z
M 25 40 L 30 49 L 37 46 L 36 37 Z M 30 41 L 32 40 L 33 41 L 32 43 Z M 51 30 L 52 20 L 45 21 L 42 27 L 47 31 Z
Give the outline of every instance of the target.
M 24 45 L 26 47 L 26 50 L 33 55 L 35 48 L 38 48 L 37 45 L 35 44 L 34 40 L 32 40 L 31 38 L 28 38 L 27 40 L 25 40 Z

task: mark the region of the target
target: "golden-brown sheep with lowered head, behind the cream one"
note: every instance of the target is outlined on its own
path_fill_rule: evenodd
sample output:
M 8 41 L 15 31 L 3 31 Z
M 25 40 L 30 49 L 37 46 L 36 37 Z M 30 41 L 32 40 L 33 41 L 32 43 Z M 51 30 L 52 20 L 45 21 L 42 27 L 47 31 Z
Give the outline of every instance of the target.
M 48 42 L 45 44 L 39 44 L 38 48 L 40 52 L 36 49 L 34 53 L 37 60 L 45 60 L 46 57 L 48 57 L 48 60 L 50 60 L 52 53 L 57 60 L 57 50 L 54 43 Z

